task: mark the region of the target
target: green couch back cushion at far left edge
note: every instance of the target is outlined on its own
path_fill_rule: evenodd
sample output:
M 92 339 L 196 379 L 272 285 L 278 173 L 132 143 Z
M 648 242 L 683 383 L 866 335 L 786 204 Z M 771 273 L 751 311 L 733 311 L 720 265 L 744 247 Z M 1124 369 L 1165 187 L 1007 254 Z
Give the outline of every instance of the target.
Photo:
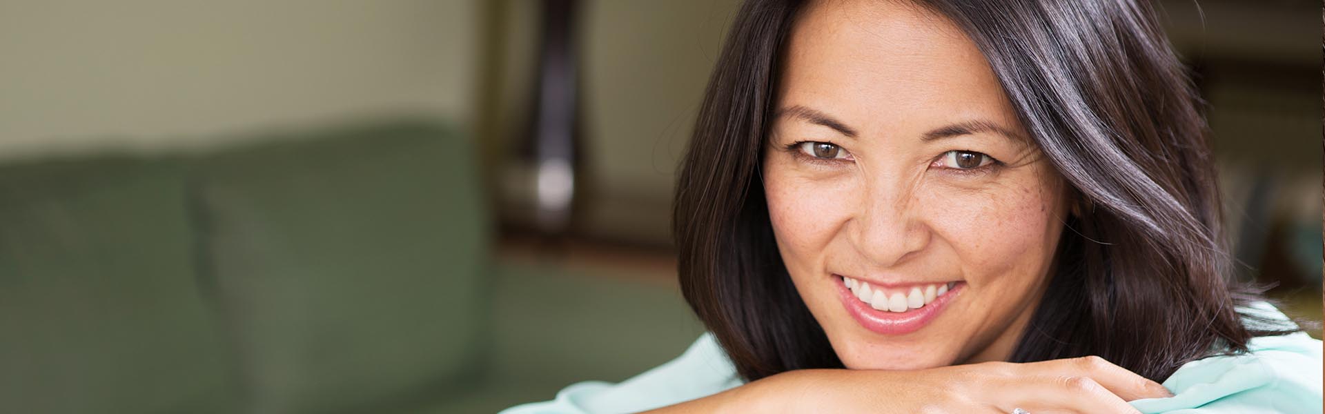
M 0 411 L 227 411 L 178 166 L 0 167 Z

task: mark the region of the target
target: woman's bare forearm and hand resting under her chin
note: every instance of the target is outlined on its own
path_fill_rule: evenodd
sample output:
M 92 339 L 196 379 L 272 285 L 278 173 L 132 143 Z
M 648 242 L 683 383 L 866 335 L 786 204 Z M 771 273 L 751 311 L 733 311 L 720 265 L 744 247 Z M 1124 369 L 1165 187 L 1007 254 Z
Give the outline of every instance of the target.
M 662 411 L 1137 413 L 1128 401 L 1159 397 L 1171 394 L 1104 358 L 1084 357 L 909 372 L 795 370 Z

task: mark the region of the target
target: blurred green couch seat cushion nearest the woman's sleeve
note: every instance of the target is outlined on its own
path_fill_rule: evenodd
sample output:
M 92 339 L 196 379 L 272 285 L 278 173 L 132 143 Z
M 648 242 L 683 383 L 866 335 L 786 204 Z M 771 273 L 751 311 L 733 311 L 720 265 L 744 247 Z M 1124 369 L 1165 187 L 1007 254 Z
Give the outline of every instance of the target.
M 392 413 L 497 413 L 580 381 L 620 382 L 681 356 L 704 333 L 674 283 L 641 276 L 651 269 L 501 259 L 493 364 L 468 387 Z

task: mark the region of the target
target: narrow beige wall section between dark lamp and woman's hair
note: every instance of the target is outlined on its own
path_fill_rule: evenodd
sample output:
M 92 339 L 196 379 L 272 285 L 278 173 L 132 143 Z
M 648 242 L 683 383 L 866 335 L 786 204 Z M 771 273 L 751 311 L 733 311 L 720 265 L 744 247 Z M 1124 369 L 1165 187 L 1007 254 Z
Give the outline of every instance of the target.
M 670 240 L 672 186 L 739 1 L 592 1 L 584 121 L 596 198 L 586 231 Z

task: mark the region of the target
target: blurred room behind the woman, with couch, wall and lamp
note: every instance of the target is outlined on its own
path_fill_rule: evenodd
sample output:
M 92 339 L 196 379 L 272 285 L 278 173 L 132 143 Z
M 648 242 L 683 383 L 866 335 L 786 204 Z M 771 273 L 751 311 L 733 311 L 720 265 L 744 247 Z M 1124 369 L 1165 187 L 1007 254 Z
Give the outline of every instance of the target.
M 1158 4 L 1240 277 L 1320 321 L 1320 4 Z M 678 356 L 737 5 L 0 0 L 0 411 L 490 413 Z

